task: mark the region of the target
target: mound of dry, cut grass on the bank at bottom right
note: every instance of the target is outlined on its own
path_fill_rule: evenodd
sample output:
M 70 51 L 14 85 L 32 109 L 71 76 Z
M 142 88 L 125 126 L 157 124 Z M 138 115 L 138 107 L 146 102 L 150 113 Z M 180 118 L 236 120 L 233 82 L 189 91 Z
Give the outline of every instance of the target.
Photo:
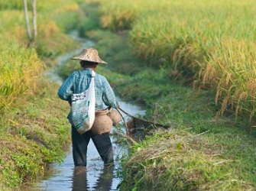
M 225 141 L 225 136 L 230 141 Z M 252 149 L 255 145 L 245 140 L 246 136 L 238 139 L 228 131 L 212 137 L 207 131 L 190 134 L 159 130 L 147 141 L 132 146 L 131 156 L 123 162 L 120 189 L 254 190 L 254 176 L 244 176 L 249 169 L 253 172 L 253 152 L 243 152 L 242 147 Z M 234 157 L 232 152 L 236 151 L 240 151 L 240 157 Z M 248 170 L 243 167 L 247 164 Z

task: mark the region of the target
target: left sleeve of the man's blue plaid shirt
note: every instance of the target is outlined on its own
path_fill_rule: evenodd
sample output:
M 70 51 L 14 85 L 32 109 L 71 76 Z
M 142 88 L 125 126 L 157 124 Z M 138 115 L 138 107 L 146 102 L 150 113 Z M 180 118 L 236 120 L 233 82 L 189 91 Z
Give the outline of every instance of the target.
M 60 89 L 58 91 L 58 96 L 60 97 L 60 99 L 71 101 L 71 94 L 73 93 L 73 76 L 74 73 L 68 76 L 67 79 L 60 86 Z

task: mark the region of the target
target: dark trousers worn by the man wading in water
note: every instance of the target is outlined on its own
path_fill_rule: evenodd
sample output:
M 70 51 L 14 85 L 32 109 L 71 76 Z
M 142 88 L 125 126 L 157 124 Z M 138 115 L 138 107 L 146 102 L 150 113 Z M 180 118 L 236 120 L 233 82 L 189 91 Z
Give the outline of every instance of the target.
M 73 144 L 73 160 L 76 167 L 86 167 L 87 146 L 90 139 L 102 158 L 105 164 L 113 162 L 113 148 L 109 133 L 92 134 L 92 131 L 87 131 L 84 134 L 79 134 L 74 126 L 72 126 L 72 144 Z

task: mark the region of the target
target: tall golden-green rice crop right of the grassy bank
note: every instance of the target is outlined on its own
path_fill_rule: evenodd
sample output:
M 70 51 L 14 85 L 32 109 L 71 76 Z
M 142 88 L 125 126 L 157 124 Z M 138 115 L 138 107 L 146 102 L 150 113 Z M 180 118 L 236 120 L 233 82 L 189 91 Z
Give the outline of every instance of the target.
M 102 5 L 103 27 L 131 28 L 134 53 L 149 65 L 213 89 L 220 114 L 232 110 L 255 118 L 254 1 L 87 2 Z

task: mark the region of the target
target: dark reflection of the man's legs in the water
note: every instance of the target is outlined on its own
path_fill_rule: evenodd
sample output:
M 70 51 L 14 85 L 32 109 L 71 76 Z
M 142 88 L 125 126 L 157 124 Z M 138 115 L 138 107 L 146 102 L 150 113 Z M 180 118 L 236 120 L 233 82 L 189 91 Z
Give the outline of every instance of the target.
M 73 191 L 87 191 L 87 190 L 102 190 L 107 191 L 112 189 L 114 166 L 104 167 L 96 181 L 93 189 L 89 188 L 87 180 L 86 167 L 75 167 L 73 171 Z

